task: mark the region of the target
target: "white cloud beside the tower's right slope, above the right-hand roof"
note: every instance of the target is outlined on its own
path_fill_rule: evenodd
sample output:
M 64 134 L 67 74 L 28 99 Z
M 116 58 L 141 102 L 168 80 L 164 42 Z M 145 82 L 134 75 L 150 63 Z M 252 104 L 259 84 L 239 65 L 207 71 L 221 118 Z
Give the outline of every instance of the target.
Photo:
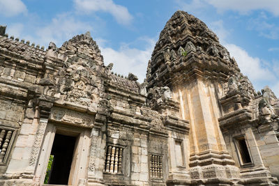
M 241 72 L 243 72 L 244 75 L 248 75 L 252 82 L 258 80 L 276 80 L 273 72 L 264 67 L 263 61 L 260 59 L 249 56 L 249 54 L 244 49 L 234 44 L 227 44 L 225 47 L 228 49 L 231 56 L 234 56 L 236 59 Z

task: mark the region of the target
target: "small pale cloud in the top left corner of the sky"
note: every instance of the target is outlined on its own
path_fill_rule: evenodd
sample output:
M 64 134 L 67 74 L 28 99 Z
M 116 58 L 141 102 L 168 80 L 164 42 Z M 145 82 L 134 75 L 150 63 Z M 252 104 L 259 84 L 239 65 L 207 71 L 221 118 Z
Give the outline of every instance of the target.
M 27 13 L 27 7 L 21 0 L 0 0 L 0 14 L 6 17 Z

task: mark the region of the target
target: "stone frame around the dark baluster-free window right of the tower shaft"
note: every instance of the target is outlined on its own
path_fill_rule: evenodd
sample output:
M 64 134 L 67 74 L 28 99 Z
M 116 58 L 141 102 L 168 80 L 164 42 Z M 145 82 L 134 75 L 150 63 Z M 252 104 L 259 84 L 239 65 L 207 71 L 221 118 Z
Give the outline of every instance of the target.
M 241 139 L 244 139 L 245 142 L 246 142 L 246 147 L 247 147 L 248 154 L 249 154 L 251 162 L 243 163 L 243 160 L 242 160 L 242 157 L 241 157 L 241 153 L 240 153 L 240 150 L 239 150 L 239 145 L 238 145 L 239 140 L 241 140 Z M 252 154 L 250 152 L 250 147 L 249 147 L 246 135 L 245 134 L 241 134 L 239 136 L 236 136 L 236 137 L 233 138 L 233 141 L 234 141 L 234 147 L 236 149 L 236 155 L 237 155 L 237 158 L 239 159 L 239 165 L 241 166 L 241 168 L 246 168 L 246 167 L 254 166 L 254 162 L 252 160 Z

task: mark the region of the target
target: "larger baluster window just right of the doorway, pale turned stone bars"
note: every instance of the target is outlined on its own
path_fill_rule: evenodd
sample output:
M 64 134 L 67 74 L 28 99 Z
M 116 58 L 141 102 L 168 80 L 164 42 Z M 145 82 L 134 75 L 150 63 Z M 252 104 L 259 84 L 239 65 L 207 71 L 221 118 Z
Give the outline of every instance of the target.
M 120 146 L 107 146 L 105 158 L 105 172 L 122 173 L 123 148 Z

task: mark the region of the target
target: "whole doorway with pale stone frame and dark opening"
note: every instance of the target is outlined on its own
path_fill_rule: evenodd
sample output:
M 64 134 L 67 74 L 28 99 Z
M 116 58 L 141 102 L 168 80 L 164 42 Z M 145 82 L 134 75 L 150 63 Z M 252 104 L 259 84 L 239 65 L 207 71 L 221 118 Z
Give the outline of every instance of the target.
M 36 166 L 36 177 L 40 178 L 40 185 L 77 186 L 80 179 L 86 180 L 90 134 L 91 130 L 88 128 L 47 123 Z M 45 182 L 50 157 L 53 157 L 53 162 L 49 179 Z

